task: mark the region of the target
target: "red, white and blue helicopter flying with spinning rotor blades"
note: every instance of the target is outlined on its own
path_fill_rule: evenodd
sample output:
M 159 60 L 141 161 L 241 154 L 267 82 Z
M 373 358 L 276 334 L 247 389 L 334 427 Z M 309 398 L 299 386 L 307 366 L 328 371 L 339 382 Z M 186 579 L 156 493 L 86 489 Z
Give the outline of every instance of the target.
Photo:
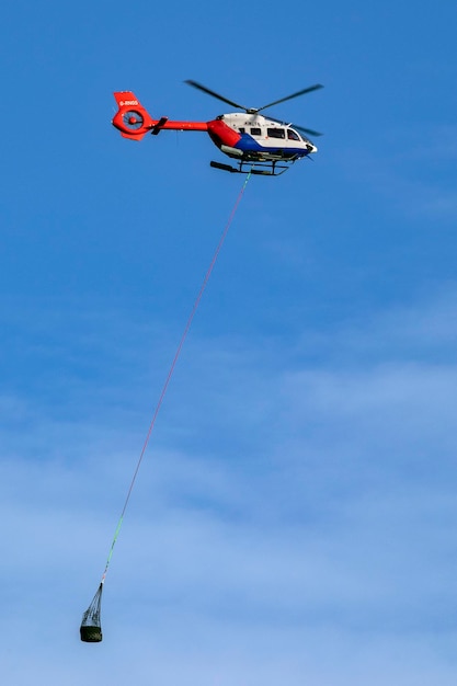
M 197 81 L 187 80 L 185 83 L 243 112 L 219 114 L 210 122 L 174 122 L 165 116 L 153 119 L 132 91 L 116 91 L 114 98 L 118 110 L 112 119 L 113 126 L 124 138 L 132 140 L 141 140 L 147 133 L 157 136 L 162 130 L 206 132 L 221 152 L 237 161 L 236 167 L 216 161 L 212 161 L 210 165 L 230 173 L 250 171 L 253 174 L 278 176 L 297 160 L 317 152 L 317 147 L 307 135 L 321 136 L 319 132 L 266 117 L 260 113 L 273 105 L 323 88 L 320 83 L 262 107 L 240 105 Z

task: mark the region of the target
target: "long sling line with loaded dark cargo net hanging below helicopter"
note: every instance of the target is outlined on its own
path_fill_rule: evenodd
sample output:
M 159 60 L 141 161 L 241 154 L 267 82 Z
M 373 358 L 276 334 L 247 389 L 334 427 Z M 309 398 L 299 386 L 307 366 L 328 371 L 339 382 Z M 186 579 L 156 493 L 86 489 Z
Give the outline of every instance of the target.
M 124 502 L 124 507 L 123 507 L 123 511 L 121 513 L 121 517 L 119 517 L 119 521 L 117 523 L 116 530 L 114 533 L 113 541 L 111 544 L 110 552 L 108 552 L 107 560 L 106 560 L 105 571 L 103 572 L 103 575 L 102 575 L 102 581 L 100 583 L 98 592 L 95 593 L 95 595 L 93 597 L 92 603 L 90 604 L 90 606 L 88 607 L 88 609 L 85 610 L 85 613 L 82 616 L 82 622 L 81 622 L 81 627 L 80 627 L 81 641 L 85 641 L 87 643 L 100 643 L 100 641 L 102 640 L 102 627 L 101 627 L 101 624 L 100 624 L 100 610 L 101 610 L 103 584 L 104 584 L 104 581 L 105 581 L 105 578 L 106 578 L 107 568 L 110 567 L 111 558 L 113 556 L 114 546 L 116 544 L 116 540 L 117 540 L 117 537 L 119 535 L 121 527 L 122 527 L 122 524 L 123 524 L 123 521 L 124 521 L 125 511 L 127 510 L 128 501 L 130 500 L 132 491 L 134 489 L 135 481 L 136 481 L 139 468 L 141 466 L 141 462 L 142 462 L 142 458 L 145 457 L 146 448 L 148 447 L 149 438 L 151 437 L 151 433 L 152 433 L 152 430 L 153 430 L 155 424 L 156 424 L 157 415 L 159 414 L 159 410 L 160 410 L 160 408 L 162 405 L 162 402 L 163 402 L 163 399 L 165 397 L 169 384 L 171 381 L 171 377 L 173 376 L 174 367 L 176 366 L 178 359 L 179 359 L 179 357 L 181 355 L 182 347 L 184 345 L 185 339 L 187 338 L 187 333 L 188 333 L 188 331 L 191 329 L 191 325 L 192 325 L 192 322 L 194 320 L 195 313 L 196 313 L 196 311 L 198 309 L 199 301 L 202 300 L 203 294 L 204 294 L 205 288 L 206 288 L 206 286 L 208 284 L 209 277 L 210 277 L 212 272 L 214 270 L 214 266 L 216 264 L 216 261 L 217 261 L 217 258 L 219 255 L 219 252 L 222 249 L 224 242 L 225 242 L 225 240 L 227 238 L 228 230 L 229 230 L 229 228 L 231 226 L 231 222 L 233 221 L 235 215 L 236 215 L 237 209 L 238 209 L 238 205 L 240 204 L 241 198 L 242 198 L 242 196 L 244 194 L 244 190 L 245 190 L 245 186 L 248 185 L 248 181 L 250 180 L 251 174 L 253 173 L 253 167 L 254 165 L 252 165 L 251 170 L 247 173 L 244 183 L 243 183 L 243 185 L 241 187 L 241 191 L 240 191 L 240 193 L 239 193 L 239 195 L 237 197 L 237 201 L 236 201 L 236 203 L 233 205 L 233 208 L 231 210 L 229 219 L 228 219 L 228 221 L 227 221 L 227 224 L 225 226 L 222 235 L 221 235 L 221 237 L 219 239 L 219 242 L 217 244 L 217 248 L 216 248 L 216 250 L 214 252 L 213 260 L 212 260 L 212 262 L 209 264 L 209 267 L 208 267 L 208 270 L 207 270 L 207 272 L 205 274 L 205 278 L 203 279 L 203 284 L 202 284 L 201 289 L 198 291 L 198 295 L 197 295 L 197 297 L 195 299 L 195 302 L 194 302 L 192 311 L 191 311 L 191 313 L 188 316 L 187 322 L 186 322 L 186 324 L 184 327 L 184 331 L 182 333 L 180 343 L 178 345 L 178 350 L 176 350 L 176 352 L 174 354 L 173 362 L 171 363 L 169 373 L 168 373 L 165 381 L 163 384 L 162 391 L 161 391 L 160 397 L 159 397 L 159 401 L 158 401 L 158 403 L 156 405 L 156 410 L 155 410 L 155 413 L 152 415 L 152 420 L 151 420 L 151 423 L 149 425 L 149 430 L 148 430 L 148 433 L 146 435 L 146 439 L 145 439 L 145 443 L 142 445 L 139 458 L 138 458 L 138 461 L 137 461 L 137 465 L 136 465 L 136 468 L 135 468 L 135 471 L 134 471 L 134 476 L 133 476 L 132 481 L 130 481 L 130 485 L 129 485 L 129 488 L 127 490 L 127 496 L 126 496 L 125 502 Z

